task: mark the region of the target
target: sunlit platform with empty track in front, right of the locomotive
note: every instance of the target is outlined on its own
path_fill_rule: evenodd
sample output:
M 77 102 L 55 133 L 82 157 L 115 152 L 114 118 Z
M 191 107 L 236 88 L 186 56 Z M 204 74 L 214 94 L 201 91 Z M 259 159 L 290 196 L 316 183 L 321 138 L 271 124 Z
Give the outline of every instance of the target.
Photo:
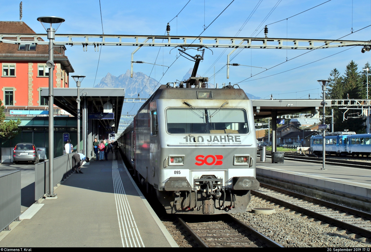
M 308 196 L 371 212 L 371 170 L 285 160 L 283 164 L 256 162 L 256 179 Z

